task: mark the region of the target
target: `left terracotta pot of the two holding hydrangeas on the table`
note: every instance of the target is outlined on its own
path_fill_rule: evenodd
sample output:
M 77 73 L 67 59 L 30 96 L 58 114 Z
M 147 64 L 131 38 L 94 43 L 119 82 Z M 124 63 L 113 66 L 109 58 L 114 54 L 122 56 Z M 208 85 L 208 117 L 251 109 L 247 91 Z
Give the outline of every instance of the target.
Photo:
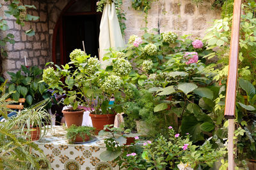
M 67 127 L 71 125 L 80 126 L 83 123 L 84 109 L 72 111 L 71 109 L 61 111 L 65 117 Z

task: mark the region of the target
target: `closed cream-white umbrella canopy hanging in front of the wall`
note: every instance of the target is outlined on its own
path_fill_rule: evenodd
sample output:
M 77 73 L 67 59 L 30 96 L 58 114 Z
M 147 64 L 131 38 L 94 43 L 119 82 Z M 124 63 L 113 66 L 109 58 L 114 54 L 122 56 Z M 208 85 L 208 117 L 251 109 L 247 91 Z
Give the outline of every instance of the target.
M 125 42 L 122 36 L 118 18 L 116 15 L 115 4 L 106 3 L 100 21 L 100 36 L 99 36 L 99 58 L 102 58 L 108 48 L 124 47 Z

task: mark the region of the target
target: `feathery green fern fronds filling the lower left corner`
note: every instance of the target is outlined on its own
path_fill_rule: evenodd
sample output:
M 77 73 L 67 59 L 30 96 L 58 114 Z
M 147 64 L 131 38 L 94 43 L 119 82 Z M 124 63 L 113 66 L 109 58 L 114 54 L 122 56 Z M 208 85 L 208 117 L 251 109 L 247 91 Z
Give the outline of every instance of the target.
M 0 90 L 3 89 L 2 87 Z M 44 153 L 38 148 L 38 145 L 29 141 L 30 136 L 26 135 L 24 129 L 20 129 L 19 125 L 26 122 L 31 117 L 29 114 L 33 111 L 41 111 L 47 101 L 25 109 L 17 117 L 8 118 L 5 99 L 9 95 L 2 94 L 0 97 L 0 116 L 6 118 L 5 122 L 0 122 L 0 169 L 40 169 L 39 162 L 42 158 L 45 159 Z M 42 114 L 40 117 L 43 118 Z M 39 155 L 35 155 L 33 153 L 35 151 Z

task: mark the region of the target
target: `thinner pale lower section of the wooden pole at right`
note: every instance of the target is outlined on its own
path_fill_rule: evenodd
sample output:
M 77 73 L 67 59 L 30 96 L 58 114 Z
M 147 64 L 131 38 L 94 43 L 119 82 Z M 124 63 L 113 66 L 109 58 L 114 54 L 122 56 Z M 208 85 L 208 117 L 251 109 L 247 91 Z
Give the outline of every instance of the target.
M 233 118 L 228 119 L 228 170 L 233 170 L 234 166 L 234 131 L 235 122 Z

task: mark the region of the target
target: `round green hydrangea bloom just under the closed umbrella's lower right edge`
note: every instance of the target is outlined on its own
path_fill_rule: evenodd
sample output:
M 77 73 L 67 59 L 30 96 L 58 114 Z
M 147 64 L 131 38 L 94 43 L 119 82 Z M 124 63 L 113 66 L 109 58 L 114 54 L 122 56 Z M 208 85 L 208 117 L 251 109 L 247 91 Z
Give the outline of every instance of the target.
M 113 64 L 113 72 L 118 76 L 126 76 L 130 73 L 132 66 L 129 61 L 125 59 L 117 59 Z

